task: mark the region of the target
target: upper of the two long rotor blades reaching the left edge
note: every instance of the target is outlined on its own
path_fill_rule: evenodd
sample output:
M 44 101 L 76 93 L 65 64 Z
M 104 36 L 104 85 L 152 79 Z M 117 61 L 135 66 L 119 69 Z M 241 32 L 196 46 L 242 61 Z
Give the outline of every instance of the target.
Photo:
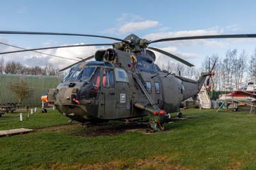
M 5 35 L 65 35 L 65 36 L 91 36 L 98 38 L 107 38 L 111 40 L 116 40 L 120 42 L 126 42 L 125 40 L 114 38 L 110 36 L 100 36 L 100 35 L 84 35 L 84 34 L 72 34 L 72 33 L 47 33 L 47 32 L 28 32 L 28 31 L 0 31 L 0 34 Z

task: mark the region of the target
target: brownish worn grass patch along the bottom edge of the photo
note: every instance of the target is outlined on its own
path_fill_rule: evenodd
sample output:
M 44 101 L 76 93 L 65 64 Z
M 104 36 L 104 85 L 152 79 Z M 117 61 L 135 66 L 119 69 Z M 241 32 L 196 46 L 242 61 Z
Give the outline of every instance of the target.
M 45 166 L 47 169 L 66 170 L 66 169 L 170 169 L 170 170 L 188 170 L 188 167 L 181 166 L 180 164 L 170 163 L 168 157 L 158 156 L 153 158 L 129 160 L 114 160 L 107 163 L 83 164 L 75 163 L 68 164 L 48 164 Z M 26 169 L 41 169 L 42 167 L 27 167 Z

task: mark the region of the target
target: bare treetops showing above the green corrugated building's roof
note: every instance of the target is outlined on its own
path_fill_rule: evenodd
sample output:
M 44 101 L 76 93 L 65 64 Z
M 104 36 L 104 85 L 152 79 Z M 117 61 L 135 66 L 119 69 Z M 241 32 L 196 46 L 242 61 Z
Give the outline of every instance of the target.
M 4 62 L 2 57 L 0 60 L 0 73 L 6 74 L 24 74 L 24 75 L 62 75 L 58 72 L 58 68 L 51 63 L 46 66 L 24 66 L 17 61 Z

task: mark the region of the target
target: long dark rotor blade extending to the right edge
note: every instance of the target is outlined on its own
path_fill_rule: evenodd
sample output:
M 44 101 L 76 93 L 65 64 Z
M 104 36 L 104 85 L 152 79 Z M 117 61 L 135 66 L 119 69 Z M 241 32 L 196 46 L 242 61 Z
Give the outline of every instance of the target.
M 198 39 L 213 39 L 213 38 L 256 38 L 256 34 L 249 34 L 249 35 L 203 35 L 203 36 L 184 36 L 184 37 L 175 37 L 175 38 L 162 38 L 159 40 L 154 40 L 149 43 L 156 43 L 156 42 L 170 42 L 170 41 L 177 41 L 177 40 L 198 40 Z M 148 43 L 148 44 L 149 44 Z

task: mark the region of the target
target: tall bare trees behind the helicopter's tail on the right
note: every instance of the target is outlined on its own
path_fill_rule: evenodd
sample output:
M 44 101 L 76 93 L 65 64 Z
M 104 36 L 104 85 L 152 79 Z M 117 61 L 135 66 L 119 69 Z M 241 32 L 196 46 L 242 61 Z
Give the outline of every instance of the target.
M 200 68 L 174 62 L 163 64 L 161 68 L 196 80 L 201 72 L 209 72 L 215 61 L 213 84 L 211 83 L 215 91 L 233 91 L 241 88 L 248 81 L 255 82 L 256 80 L 256 49 L 252 55 L 248 55 L 245 50 L 238 53 L 237 49 L 227 50 L 225 56 L 212 54 L 205 57 Z

